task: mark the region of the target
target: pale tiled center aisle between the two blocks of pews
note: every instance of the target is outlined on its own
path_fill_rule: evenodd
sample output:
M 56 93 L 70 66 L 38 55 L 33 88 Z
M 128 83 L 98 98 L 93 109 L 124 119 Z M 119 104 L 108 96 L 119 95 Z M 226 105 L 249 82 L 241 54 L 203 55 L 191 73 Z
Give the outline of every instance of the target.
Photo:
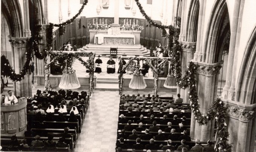
M 118 113 L 118 91 L 95 90 L 75 152 L 114 152 Z

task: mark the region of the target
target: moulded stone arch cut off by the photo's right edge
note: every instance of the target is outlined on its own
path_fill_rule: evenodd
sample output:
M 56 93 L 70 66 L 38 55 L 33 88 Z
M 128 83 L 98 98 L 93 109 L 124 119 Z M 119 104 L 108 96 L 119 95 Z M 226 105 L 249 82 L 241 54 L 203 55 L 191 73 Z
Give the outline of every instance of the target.
M 235 100 L 244 104 L 256 103 L 256 25 L 245 47 Z

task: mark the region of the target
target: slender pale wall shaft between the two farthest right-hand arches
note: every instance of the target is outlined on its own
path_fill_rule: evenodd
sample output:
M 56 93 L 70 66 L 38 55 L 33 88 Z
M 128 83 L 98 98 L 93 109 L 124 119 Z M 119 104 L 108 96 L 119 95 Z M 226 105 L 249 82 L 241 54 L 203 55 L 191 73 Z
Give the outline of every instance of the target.
M 202 61 L 202 53 L 200 53 L 200 46 L 201 44 L 201 31 L 203 31 L 202 28 L 202 19 L 203 19 L 203 4 L 204 0 L 200 0 L 200 7 L 199 7 L 199 14 L 198 14 L 198 26 L 197 26 L 197 49 L 195 52 L 194 60 L 195 61 Z

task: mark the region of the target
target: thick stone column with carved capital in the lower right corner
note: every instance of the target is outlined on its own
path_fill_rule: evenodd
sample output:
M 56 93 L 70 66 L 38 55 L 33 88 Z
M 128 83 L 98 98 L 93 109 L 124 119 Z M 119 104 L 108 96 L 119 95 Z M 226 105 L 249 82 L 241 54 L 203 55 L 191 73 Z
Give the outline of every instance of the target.
M 232 150 L 237 152 L 253 152 L 256 132 L 255 105 L 237 105 L 227 102 L 229 114 L 229 143 L 233 143 Z

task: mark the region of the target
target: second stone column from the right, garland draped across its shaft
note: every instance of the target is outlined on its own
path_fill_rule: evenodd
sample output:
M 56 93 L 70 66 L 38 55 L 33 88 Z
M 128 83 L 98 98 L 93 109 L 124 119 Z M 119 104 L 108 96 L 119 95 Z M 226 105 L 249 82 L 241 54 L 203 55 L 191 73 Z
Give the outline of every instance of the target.
M 197 68 L 197 76 L 196 76 L 198 100 L 199 100 L 198 102 L 200 104 L 200 111 L 203 113 L 206 113 L 208 110 L 208 107 L 216 98 L 216 94 L 217 94 L 216 83 L 218 83 L 218 74 L 220 70 L 220 68 L 218 68 L 217 66 L 221 65 L 222 62 L 205 65 L 204 62 L 196 62 L 194 60 L 192 61 L 199 66 Z M 208 122 L 207 125 L 200 126 L 197 122 L 194 121 L 194 117 L 192 117 L 191 126 L 192 126 L 192 129 L 190 130 L 190 134 L 193 135 L 192 138 L 195 138 L 195 139 L 198 138 L 201 141 L 207 141 L 208 139 L 213 139 L 215 136 L 215 134 L 213 134 L 214 121 Z

